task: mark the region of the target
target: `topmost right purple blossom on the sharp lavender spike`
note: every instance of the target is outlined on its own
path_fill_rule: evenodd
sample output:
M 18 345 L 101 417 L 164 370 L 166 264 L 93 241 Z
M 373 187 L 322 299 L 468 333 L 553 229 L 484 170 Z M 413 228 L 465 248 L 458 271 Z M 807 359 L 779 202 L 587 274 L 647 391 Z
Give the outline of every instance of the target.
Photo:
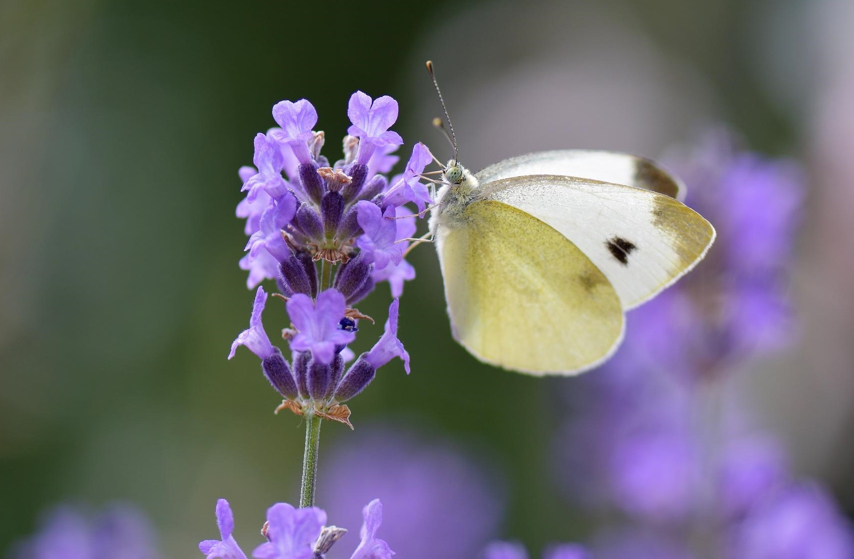
M 353 123 L 347 133 L 360 140 L 359 154 L 356 155 L 356 162 L 360 165 L 366 165 L 371 160 L 377 147 L 389 144 L 399 146 L 403 143 L 400 134 L 389 131 L 397 120 L 397 102 L 389 96 L 384 95 L 371 101 L 371 97 L 356 91 L 350 96 L 347 116 Z

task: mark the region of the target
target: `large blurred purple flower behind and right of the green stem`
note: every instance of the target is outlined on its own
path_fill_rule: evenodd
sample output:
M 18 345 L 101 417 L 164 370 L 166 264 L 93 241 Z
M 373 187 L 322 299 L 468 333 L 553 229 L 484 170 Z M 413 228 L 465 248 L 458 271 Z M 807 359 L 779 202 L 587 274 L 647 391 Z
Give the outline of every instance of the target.
M 471 559 L 494 536 L 502 499 L 488 471 L 423 435 L 361 425 L 320 464 L 318 502 L 352 526 L 383 501 L 383 537 L 407 559 Z M 358 473 L 358 475 L 356 475 Z

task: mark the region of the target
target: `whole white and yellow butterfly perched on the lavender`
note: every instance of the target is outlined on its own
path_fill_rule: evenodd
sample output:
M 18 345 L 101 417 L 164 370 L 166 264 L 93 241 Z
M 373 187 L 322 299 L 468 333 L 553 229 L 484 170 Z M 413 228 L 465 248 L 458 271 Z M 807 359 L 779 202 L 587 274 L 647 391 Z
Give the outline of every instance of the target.
M 442 173 L 430 215 L 455 340 L 532 375 L 601 364 L 623 312 L 691 270 L 715 230 L 652 160 L 605 151 L 520 155 Z

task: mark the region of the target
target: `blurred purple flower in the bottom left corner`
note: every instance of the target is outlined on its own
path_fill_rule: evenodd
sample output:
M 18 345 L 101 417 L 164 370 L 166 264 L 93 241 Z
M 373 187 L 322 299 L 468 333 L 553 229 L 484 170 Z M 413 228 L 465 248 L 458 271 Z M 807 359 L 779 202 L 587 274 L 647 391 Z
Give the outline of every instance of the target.
M 62 505 L 39 532 L 16 544 L 14 559 L 158 559 L 155 533 L 137 509 L 115 504 L 95 518 Z

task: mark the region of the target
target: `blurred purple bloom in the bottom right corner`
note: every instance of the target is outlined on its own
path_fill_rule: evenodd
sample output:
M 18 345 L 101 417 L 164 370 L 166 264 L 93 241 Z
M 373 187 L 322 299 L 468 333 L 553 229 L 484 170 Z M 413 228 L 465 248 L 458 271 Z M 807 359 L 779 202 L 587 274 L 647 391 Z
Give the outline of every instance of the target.
M 804 484 L 759 504 L 734 535 L 737 559 L 851 559 L 851 525 L 819 486 Z

